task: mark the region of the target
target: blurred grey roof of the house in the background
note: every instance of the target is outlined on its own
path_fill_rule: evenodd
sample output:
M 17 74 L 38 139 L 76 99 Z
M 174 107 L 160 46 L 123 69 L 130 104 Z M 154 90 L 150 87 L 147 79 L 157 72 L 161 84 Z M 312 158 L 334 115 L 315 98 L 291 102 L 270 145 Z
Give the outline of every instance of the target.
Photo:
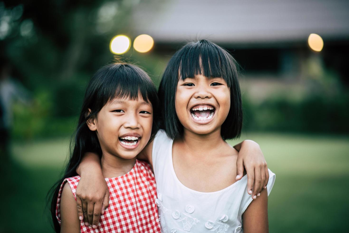
M 348 0 L 141 1 L 132 13 L 135 35 L 157 43 L 208 38 L 227 44 L 349 41 Z

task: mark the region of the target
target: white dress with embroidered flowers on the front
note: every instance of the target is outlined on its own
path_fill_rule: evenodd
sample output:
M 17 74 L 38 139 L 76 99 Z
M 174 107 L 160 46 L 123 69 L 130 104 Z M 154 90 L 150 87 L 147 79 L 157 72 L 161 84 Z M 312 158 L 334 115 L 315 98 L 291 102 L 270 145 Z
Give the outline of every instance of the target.
M 242 214 L 253 201 L 247 193 L 247 175 L 216 192 L 189 189 L 174 172 L 172 144 L 163 130 L 156 134 L 152 156 L 161 232 L 243 232 Z M 275 174 L 269 170 L 268 195 L 274 181 Z

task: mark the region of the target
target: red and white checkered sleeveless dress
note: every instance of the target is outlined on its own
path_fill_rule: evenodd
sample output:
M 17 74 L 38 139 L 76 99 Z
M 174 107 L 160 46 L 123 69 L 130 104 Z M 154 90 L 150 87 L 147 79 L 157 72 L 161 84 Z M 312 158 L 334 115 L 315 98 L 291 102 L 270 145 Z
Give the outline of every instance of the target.
M 80 176 L 64 180 L 59 190 L 56 217 L 60 220 L 60 200 L 63 184 L 67 182 L 75 192 Z M 148 163 L 136 160 L 127 174 L 115 178 L 105 178 L 110 198 L 109 206 L 99 219 L 97 229 L 85 226 L 81 221 L 81 232 L 160 232 L 156 199 L 156 184 Z

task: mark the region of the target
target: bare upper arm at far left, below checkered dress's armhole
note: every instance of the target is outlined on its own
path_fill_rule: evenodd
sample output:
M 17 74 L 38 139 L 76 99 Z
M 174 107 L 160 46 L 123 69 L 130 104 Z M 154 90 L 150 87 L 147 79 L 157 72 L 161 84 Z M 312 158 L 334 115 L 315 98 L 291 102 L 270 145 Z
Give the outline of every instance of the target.
M 68 183 L 64 184 L 60 204 L 61 232 L 80 232 L 76 201 Z

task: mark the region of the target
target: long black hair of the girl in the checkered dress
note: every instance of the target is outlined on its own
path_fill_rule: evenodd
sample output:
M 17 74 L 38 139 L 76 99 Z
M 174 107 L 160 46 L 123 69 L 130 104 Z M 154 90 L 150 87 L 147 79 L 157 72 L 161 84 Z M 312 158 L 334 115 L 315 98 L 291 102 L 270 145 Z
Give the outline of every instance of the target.
M 86 152 L 102 155 L 101 146 L 95 131 L 91 131 L 86 121 L 95 117 L 103 106 L 117 97 L 137 100 L 139 94 L 147 103 L 153 106 L 152 139 L 158 130 L 158 97 L 154 83 L 141 68 L 127 63 L 113 63 L 99 69 L 90 80 L 83 100 L 79 122 L 75 137 L 70 142 L 70 158 L 63 177 L 51 188 L 51 216 L 54 230 L 60 232 L 60 225 L 56 218 L 56 205 L 60 186 L 64 179 L 76 176 L 79 166 Z M 88 114 L 88 109 L 91 112 Z

